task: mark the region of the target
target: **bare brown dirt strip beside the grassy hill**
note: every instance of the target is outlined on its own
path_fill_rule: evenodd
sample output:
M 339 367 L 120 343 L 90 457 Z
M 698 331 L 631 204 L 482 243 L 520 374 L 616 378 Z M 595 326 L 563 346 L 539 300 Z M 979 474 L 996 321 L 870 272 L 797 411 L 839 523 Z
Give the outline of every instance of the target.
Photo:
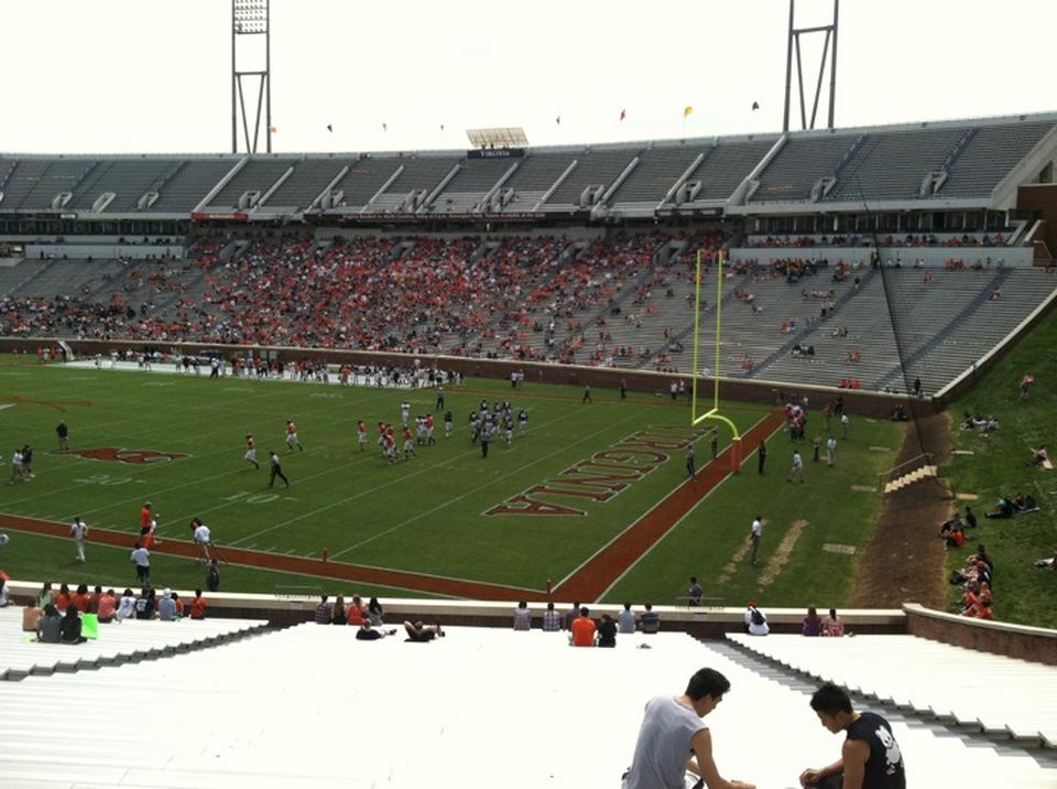
M 917 425 L 915 433 L 913 423 L 907 424 L 896 464 L 922 454 L 922 446 L 933 453 L 934 465 L 947 463 L 951 437 L 946 414 L 920 418 Z M 886 495 L 878 528 L 860 561 L 849 605 L 898 608 L 903 603 L 920 603 L 942 609 L 945 549 L 937 534 L 952 506 L 946 480 L 935 477 Z

